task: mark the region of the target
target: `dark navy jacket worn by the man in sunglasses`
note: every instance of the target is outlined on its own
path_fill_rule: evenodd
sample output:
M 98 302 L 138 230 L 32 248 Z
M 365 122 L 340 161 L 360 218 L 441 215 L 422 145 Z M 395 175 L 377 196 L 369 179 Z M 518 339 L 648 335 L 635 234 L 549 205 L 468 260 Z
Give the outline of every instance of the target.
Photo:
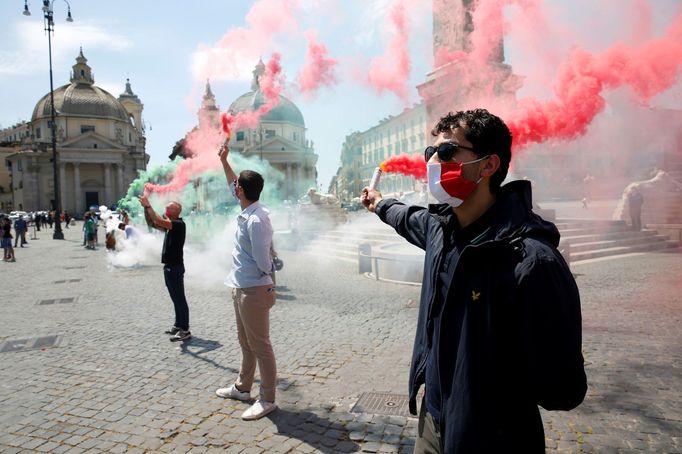
M 502 187 L 490 229 L 459 257 L 440 329 L 440 431 L 445 453 L 544 452 L 538 405 L 570 410 L 587 392 L 580 296 L 557 250 L 559 231 L 532 212 L 530 183 Z M 386 199 L 382 221 L 426 252 L 409 377 L 410 412 L 424 372 L 443 248 L 447 205 Z

